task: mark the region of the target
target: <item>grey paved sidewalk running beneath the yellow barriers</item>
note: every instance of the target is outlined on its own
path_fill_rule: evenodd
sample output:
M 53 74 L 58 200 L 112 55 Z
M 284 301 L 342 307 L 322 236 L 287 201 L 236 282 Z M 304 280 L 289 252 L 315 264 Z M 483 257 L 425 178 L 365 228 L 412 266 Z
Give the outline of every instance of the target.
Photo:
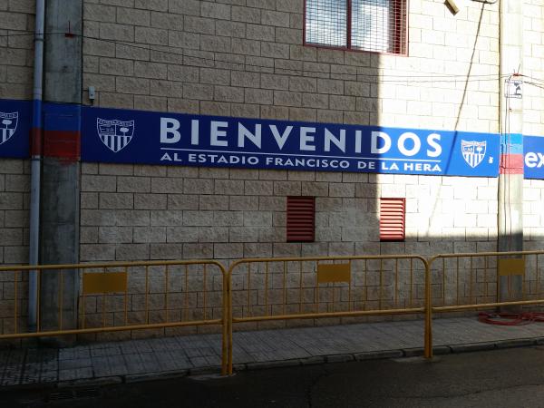
M 437 319 L 436 354 L 544 344 L 544 324 L 486 325 L 476 317 Z M 219 374 L 220 335 L 0 349 L 0 385 L 108 384 L 185 374 Z M 423 321 L 289 328 L 234 334 L 235 369 L 320 364 L 423 354 Z

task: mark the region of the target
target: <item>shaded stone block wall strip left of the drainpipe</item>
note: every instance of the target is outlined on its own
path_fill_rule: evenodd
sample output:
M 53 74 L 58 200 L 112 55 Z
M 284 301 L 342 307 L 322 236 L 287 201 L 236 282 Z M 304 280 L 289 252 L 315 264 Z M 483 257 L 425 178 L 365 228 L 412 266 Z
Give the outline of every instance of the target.
M 32 99 L 34 74 L 34 1 L 0 2 L 0 99 Z M 0 265 L 28 262 L 30 170 L 26 160 L 0 159 Z M 18 310 L 24 311 L 26 277 L 0 273 L 0 333 L 15 326 L 15 282 Z M 24 324 L 22 319 L 19 324 Z

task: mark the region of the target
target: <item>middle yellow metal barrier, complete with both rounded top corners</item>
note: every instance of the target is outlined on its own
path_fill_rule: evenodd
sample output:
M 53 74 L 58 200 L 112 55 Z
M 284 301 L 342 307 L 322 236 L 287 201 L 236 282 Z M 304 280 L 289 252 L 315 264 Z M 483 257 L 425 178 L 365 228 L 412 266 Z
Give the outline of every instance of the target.
M 430 316 L 425 307 L 428 270 L 427 260 L 415 255 L 254 258 L 233 263 L 228 269 L 228 373 L 234 324 Z

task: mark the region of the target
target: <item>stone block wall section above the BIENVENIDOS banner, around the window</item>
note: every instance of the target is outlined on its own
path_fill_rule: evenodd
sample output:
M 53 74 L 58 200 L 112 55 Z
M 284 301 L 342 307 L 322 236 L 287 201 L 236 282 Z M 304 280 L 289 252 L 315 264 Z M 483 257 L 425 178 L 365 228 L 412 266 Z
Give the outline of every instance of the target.
M 303 46 L 304 0 L 85 0 L 83 90 L 104 107 L 498 131 L 498 5 L 409 4 L 404 57 Z

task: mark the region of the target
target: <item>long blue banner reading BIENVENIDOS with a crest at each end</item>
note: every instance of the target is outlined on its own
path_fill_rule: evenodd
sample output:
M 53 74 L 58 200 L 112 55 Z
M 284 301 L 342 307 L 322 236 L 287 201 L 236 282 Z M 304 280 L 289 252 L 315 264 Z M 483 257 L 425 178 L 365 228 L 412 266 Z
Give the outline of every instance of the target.
M 497 177 L 497 134 L 83 108 L 82 160 Z

